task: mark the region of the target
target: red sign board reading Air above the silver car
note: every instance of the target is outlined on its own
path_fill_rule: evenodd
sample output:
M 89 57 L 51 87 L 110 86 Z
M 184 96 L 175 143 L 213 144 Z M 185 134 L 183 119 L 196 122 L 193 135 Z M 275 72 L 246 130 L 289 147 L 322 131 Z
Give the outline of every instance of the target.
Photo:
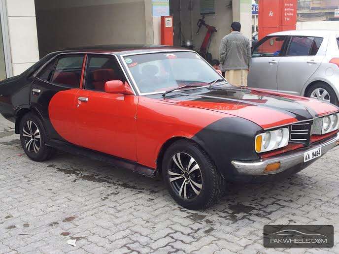
M 296 30 L 297 0 L 260 0 L 259 39 L 272 32 Z

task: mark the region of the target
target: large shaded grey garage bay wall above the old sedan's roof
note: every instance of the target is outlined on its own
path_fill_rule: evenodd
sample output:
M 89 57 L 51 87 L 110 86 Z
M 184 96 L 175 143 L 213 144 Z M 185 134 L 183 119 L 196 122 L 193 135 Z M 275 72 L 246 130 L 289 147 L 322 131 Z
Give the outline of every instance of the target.
M 35 0 L 40 57 L 91 45 L 146 43 L 144 0 Z

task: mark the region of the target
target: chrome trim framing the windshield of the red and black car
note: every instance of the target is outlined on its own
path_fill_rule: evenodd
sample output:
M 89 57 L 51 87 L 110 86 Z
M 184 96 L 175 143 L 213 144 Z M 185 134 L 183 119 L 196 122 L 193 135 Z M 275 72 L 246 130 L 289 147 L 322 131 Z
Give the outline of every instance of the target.
M 136 55 L 146 55 L 146 54 L 156 54 L 156 53 L 167 53 L 167 52 L 193 52 L 195 53 L 196 55 L 198 55 L 206 64 L 208 64 L 218 75 L 220 75 L 219 72 L 217 72 L 212 65 L 210 65 L 205 59 L 203 59 L 196 51 L 194 50 L 186 50 L 186 49 L 173 49 L 173 50 L 157 50 L 157 51 L 147 51 L 147 52 L 137 52 L 137 53 L 128 53 L 128 54 L 122 54 L 120 55 L 120 58 L 121 58 L 121 62 L 124 63 L 124 66 L 128 72 L 128 74 L 130 75 L 132 81 L 133 81 L 133 84 L 134 86 L 136 87 L 136 91 L 138 92 L 139 95 L 159 95 L 159 94 L 163 94 L 165 93 L 166 91 L 161 91 L 161 92 L 150 92 L 150 93 L 141 93 L 140 90 L 139 90 L 139 87 L 137 86 L 136 84 L 136 80 L 134 79 L 132 73 L 131 73 L 131 70 L 130 68 L 128 67 L 124 57 L 127 57 L 127 56 L 136 56 Z M 220 77 L 222 77 L 223 79 L 225 79 L 222 75 L 220 75 Z M 227 80 L 225 79 L 225 81 L 227 82 Z M 206 87 L 209 87 L 209 85 L 206 85 L 206 86 L 202 86 L 202 87 L 193 87 L 193 88 L 188 88 L 188 89 L 185 89 L 185 90 L 192 90 L 192 89 L 197 89 L 197 88 L 206 88 Z M 176 91 L 176 90 L 175 90 Z M 184 91 L 184 90 L 183 90 Z

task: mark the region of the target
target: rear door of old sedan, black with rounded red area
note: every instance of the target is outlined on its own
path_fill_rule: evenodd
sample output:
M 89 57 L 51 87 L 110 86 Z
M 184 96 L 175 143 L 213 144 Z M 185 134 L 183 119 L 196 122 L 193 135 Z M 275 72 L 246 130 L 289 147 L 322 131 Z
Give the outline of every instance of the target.
M 75 143 L 74 100 L 83 60 L 83 54 L 61 54 L 34 76 L 31 107 L 39 112 L 51 139 Z

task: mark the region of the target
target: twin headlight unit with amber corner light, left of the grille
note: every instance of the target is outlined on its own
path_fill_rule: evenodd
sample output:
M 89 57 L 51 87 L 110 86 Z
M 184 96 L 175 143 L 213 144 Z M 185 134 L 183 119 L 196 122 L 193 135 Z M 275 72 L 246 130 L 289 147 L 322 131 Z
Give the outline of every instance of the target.
M 288 128 L 266 131 L 255 137 L 255 151 L 257 153 L 268 152 L 288 145 Z

